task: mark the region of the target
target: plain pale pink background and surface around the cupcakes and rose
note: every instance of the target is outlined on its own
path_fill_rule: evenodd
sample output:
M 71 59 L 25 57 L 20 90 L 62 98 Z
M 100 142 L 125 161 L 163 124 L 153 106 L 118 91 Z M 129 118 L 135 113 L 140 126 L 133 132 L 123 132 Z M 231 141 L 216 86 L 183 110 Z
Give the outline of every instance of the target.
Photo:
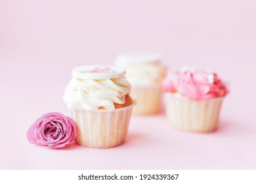
M 256 3 L 0 0 L 0 169 L 256 169 Z M 230 82 L 219 129 L 176 131 L 133 116 L 125 144 L 29 144 L 28 127 L 62 101 L 72 68 L 154 51 L 171 69 L 209 68 Z

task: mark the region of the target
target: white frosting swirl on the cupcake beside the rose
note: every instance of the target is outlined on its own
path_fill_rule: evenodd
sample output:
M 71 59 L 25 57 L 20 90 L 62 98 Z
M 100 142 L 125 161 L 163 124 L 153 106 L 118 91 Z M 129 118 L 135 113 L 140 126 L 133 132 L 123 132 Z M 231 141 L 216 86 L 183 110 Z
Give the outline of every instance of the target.
M 96 110 L 101 106 L 114 110 L 114 103 L 124 104 L 125 95 L 130 92 L 131 84 L 123 76 L 104 80 L 72 78 L 63 99 L 75 110 Z

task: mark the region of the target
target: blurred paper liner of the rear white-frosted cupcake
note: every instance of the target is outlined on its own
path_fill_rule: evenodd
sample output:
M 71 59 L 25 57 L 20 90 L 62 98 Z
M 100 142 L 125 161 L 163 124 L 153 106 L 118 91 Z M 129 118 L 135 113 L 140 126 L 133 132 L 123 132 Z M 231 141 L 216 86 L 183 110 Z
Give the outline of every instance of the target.
M 160 86 L 133 86 L 131 97 L 137 101 L 133 114 L 156 114 L 160 111 Z

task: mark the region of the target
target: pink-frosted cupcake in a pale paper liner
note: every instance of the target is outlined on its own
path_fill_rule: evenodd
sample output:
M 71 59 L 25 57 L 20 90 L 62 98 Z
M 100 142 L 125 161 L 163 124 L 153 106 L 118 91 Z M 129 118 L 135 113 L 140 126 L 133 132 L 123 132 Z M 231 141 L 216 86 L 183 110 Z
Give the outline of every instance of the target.
M 215 73 L 185 69 L 163 81 L 165 111 L 177 129 L 209 132 L 216 129 L 226 84 Z

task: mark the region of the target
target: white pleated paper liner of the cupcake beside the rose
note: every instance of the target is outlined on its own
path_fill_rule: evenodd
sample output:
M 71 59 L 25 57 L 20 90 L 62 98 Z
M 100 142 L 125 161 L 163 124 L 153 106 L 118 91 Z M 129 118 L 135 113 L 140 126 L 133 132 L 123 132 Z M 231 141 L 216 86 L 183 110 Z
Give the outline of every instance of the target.
M 116 108 L 87 111 L 69 108 L 70 117 L 77 124 L 75 142 L 91 148 L 111 148 L 125 141 L 133 105 Z

